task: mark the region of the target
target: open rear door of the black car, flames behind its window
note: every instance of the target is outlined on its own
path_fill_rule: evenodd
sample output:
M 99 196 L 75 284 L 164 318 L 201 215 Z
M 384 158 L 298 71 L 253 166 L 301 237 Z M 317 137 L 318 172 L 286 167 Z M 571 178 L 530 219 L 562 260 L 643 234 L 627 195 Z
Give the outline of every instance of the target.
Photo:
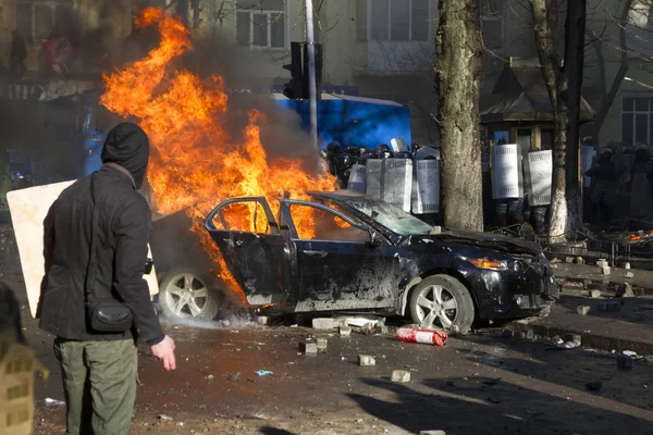
M 206 228 L 250 304 L 287 302 L 286 241 L 266 198 L 221 202 L 207 217 Z

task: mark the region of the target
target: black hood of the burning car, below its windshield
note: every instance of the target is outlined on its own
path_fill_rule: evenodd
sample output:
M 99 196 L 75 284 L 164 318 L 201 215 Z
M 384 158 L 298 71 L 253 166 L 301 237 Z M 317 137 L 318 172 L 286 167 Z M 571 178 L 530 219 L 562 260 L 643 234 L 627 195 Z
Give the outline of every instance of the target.
M 492 233 L 443 229 L 440 234 L 411 236 L 410 239 L 414 243 L 420 240 L 433 240 L 440 243 L 463 244 L 515 254 L 527 253 L 539 256 L 542 253 L 542 248 L 535 243 Z

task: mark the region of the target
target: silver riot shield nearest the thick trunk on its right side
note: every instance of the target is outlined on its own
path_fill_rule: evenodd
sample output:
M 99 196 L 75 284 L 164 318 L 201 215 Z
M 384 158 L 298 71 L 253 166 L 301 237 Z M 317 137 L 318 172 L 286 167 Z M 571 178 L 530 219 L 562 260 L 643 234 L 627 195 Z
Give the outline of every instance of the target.
M 492 198 L 523 198 L 521 147 L 517 144 L 492 147 Z

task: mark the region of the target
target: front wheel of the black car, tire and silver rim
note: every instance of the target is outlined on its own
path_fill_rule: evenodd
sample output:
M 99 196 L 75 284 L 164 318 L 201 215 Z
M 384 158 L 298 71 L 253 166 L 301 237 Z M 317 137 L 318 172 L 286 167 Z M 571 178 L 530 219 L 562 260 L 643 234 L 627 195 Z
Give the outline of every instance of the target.
M 467 334 L 475 320 L 469 290 L 449 275 L 433 275 L 422 279 L 410 294 L 409 309 L 412 322 L 424 328 Z

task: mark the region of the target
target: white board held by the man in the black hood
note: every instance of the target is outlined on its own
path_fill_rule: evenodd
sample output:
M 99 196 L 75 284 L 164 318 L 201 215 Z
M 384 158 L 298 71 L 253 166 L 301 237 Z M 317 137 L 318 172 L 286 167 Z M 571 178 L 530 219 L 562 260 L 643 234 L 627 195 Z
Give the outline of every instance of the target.
M 7 202 L 13 223 L 14 236 L 21 256 L 21 268 L 27 290 L 27 301 L 32 316 L 36 316 L 36 308 L 40 297 L 40 285 L 45 274 L 44 260 L 44 220 L 50 206 L 59 195 L 73 182 L 49 184 L 12 190 L 7 194 Z M 148 246 L 149 256 L 151 250 Z M 159 293 L 157 272 L 152 269 L 149 275 L 143 276 L 149 286 L 150 295 Z

